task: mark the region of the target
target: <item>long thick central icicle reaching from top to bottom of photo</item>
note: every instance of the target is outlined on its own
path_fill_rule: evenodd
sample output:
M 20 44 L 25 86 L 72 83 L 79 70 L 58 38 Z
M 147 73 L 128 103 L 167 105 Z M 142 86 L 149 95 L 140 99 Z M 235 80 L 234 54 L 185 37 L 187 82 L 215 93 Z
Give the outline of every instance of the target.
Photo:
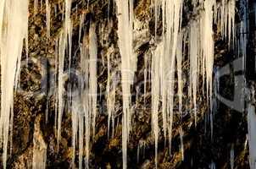
M 118 17 L 118 37 L 121 56 L 123 95 L 122 149 L 123 168 L 127 167 L 127 142 L 131 131 L 131 85 L 136 71 L 136 56 L 132 48 L 133 1 L 115 0 Z M 128 28 L 128 29 L 127 29 Z

